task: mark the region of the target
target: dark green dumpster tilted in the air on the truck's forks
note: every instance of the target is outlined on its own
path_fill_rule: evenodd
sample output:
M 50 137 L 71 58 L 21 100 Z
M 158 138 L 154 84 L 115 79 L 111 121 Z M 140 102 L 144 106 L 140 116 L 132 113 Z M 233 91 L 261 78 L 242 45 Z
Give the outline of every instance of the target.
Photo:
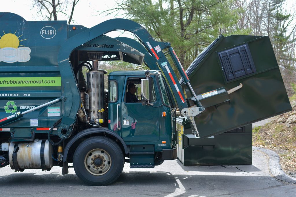
M 186 73 L 206 108 L 194 117 L 200 138 L 291 110 L 267 36 L 221 35 L 194 60 Z M 193 95 L 180 83 L 189 105 L 193 105 Z

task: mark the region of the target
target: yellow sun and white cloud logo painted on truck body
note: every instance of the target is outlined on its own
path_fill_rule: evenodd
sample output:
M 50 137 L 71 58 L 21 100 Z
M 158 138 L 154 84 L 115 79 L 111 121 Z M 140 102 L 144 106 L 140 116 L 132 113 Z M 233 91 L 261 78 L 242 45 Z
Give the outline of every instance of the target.
M 14 34 L 10 33 L 10 31 L 9 33 L 3 31 L 3 33 L 4 35 L 0 36 L 0 62 L 28 62 L 31 58 L 31 49 L 20 45 L 21 41 L 27 39 L 19 40 L 22 35 L 17 37 L 15 35 L 17 31 Z

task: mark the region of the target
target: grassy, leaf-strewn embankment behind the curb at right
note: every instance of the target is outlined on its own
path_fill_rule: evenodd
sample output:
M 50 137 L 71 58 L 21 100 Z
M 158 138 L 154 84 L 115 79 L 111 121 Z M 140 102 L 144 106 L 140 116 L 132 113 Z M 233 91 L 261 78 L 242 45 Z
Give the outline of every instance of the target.
M 282 169 L 296 177 L 296 94 L 289 99 L 292 111 L 276 116 L 264 126 L 255 127 L 252 143 L 253 146 L 275 151 L 280 157 Z

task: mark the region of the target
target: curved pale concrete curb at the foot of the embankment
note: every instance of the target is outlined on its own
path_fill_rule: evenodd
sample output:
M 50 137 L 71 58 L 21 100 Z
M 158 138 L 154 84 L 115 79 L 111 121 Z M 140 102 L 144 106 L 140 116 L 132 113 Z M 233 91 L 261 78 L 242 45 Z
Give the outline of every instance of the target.
M 281 164 L 279 162 L 278 154 L 276 154 L 274 151 L 266 149 L 266 148 L 252 146 L 252 149 L 262 151 L 269 156 L 269 170 L 270 170 L 273 177 L 275 177 L 276 179 L 288 182 L 288 183 L 296 184 L 296 178 L 290 177 L 281 169 Z

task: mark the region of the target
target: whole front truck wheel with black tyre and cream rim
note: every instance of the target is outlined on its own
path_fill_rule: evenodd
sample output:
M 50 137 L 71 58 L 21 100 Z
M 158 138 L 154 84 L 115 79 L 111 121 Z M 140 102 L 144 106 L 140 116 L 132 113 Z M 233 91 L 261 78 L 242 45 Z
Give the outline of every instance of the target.
M 75 150 L 76 175 L 89 185 L 108 185 L 118 179 L 124 165 L 121 148 L 110 138 L 91 137 Z

